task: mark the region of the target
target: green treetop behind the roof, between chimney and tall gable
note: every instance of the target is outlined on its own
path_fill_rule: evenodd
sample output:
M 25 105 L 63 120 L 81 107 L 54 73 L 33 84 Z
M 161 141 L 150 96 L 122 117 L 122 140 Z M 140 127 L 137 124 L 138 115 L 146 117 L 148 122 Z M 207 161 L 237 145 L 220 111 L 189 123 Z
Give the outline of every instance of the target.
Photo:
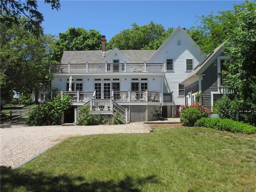
M 131 24 L 131 29 L 125 29 L 113 36 L 107 43 L 107 49 L 120 50 L 156 50 L 173 32 L 173 28 L 164 29 L 161 24 L 151 21 L 148 25 Z

